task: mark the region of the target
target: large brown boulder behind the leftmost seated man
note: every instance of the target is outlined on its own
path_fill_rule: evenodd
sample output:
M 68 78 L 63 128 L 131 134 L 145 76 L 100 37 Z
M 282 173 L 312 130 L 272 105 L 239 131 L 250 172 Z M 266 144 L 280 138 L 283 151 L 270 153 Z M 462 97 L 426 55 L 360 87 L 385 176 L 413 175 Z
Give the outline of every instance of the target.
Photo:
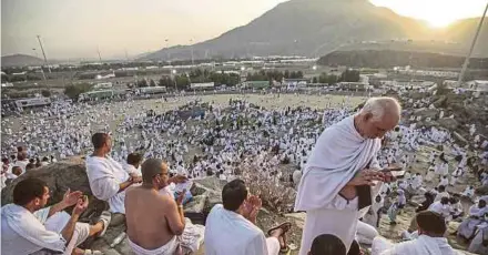
M 2 190 L 1 204 L 4 205 L 12 203 L 13 187 L 20 181 L 29 177 L 40 178 L 48 184 L 51 192 L 49 204 L 59 203 L 68 188 L 71 191 L 81 191 L 84 195 L 88 195 L 90 205 L 89 208 L 83 213 L 82 217 L 85 215 L 99 215 L 103 210 L 108 208 L 108 204 L 105 202 L 100 201 L 92 195 L 90 183 L 87 176 L 87 169 L 84 167 L 84 163 L 80 161 L 58 162 L 31 170 L 26 174 L 20 175 Z

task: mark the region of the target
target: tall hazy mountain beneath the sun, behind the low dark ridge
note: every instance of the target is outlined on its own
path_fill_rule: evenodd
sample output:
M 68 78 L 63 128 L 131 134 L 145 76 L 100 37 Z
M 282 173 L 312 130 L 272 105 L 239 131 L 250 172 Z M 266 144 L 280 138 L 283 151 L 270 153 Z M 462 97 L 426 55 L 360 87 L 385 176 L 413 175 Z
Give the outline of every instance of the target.
M 433 30 L 419 20 L 401 17 L 367 0 L 291 0 L 276 6 L 248 24 L 193 45 L 194 59 L 253 55 L 319 57 L 365 41 L 436 40 L 448 47 L 437 53 L 466 52 L 479 19 L 460 20 Z M 451 41 L 446 43 L 445 41 Z M 488 22 L 475 55 L 488 55 Z M 141 60 L 190 59 L 191 45 L 177 45 Z

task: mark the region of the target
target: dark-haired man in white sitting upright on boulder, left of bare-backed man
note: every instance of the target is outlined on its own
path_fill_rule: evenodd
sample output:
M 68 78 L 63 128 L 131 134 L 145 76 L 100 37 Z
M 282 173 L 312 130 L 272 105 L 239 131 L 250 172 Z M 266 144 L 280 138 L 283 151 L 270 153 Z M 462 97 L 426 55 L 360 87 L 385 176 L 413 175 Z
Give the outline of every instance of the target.
M 110 212 L 125 214 L 125 188 L 140 183 L 141 177 L 130 175 L 110 155 L 112 141 L 109 134 L 92 136 L 93 154 L 87 157 L 87 175 L 90 188 L 96 198 L 109 202 Z

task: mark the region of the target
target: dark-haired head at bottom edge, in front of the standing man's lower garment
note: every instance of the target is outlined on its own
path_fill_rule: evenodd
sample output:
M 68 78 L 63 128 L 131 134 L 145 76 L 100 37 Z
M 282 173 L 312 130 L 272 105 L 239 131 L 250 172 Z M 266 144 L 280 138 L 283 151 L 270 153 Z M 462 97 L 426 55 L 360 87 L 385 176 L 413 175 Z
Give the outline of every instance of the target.
M 346 255 L 346 245 L 335 235 L 323 234 L 312 242 L 308 255 Z

